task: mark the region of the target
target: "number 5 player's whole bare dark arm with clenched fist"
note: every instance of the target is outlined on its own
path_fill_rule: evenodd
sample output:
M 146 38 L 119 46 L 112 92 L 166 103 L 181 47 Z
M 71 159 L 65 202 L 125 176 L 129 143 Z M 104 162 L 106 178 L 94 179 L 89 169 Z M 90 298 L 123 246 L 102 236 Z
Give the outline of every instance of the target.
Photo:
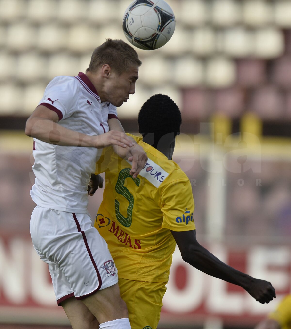
M 233 283 L 245 289 L 258 302 L 269 303 L 276 297 L 275 289 L 270 282 L 255 279 L 248 274 L 228 266 L 216 258 L 196 240 L 196 230 L 171 231 L 185 262 L 200 271 L 218 279 Z

